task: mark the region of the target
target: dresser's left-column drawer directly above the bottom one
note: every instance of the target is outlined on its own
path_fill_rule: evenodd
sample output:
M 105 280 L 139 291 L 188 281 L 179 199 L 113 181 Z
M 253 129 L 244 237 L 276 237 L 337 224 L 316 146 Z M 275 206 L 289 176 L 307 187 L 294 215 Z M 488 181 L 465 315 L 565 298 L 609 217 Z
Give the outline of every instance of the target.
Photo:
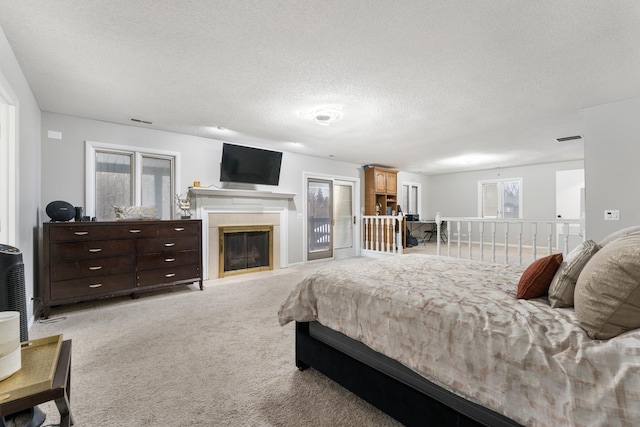
M 132 273 L 135 271 L 134 256 L 84 259 L 75 262 L 51 263 L 51 281 L 99 277 L 109 274 Z

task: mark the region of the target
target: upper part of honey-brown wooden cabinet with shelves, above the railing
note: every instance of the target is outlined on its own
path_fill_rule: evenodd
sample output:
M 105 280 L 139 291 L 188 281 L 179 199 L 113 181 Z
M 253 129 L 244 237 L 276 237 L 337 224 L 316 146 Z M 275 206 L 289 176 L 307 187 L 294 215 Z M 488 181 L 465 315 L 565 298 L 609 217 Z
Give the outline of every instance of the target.
M 364 214 L 396 214 L 398 212 L 397 185 L 398 171 L 377 166 L 365 169 Z

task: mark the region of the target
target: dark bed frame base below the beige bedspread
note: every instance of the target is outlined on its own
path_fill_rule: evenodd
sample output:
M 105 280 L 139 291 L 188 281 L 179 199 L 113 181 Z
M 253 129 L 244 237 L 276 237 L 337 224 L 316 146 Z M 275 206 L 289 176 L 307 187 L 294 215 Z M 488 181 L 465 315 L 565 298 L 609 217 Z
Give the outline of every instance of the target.
M 407 426 L 519 426 L 318 322 L 296 322 L 296 366 L 314 368 Z

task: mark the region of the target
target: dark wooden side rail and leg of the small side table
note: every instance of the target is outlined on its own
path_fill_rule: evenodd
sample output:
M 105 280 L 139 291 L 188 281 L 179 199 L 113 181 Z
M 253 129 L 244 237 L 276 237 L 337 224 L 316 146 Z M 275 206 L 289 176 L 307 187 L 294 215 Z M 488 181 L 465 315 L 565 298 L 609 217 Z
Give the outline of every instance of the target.
M 0 415 L 6 416 L 24 411 L 53 400 L 60 412 L 60 427 L 73 425 L 69 401 L 71 398 L 71 340 L 62 342 L 60 356 L 51 389 L 34 393 L 11 402 L 0 404 Z

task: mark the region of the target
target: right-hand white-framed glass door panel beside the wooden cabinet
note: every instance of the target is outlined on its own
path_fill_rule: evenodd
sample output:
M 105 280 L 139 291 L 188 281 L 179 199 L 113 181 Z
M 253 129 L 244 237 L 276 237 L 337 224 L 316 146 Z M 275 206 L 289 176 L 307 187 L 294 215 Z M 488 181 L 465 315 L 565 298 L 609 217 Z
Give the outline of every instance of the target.
M 355 256 L 355 197 L 354 183 L 333 182 L 333 250 L 335 258 Z

